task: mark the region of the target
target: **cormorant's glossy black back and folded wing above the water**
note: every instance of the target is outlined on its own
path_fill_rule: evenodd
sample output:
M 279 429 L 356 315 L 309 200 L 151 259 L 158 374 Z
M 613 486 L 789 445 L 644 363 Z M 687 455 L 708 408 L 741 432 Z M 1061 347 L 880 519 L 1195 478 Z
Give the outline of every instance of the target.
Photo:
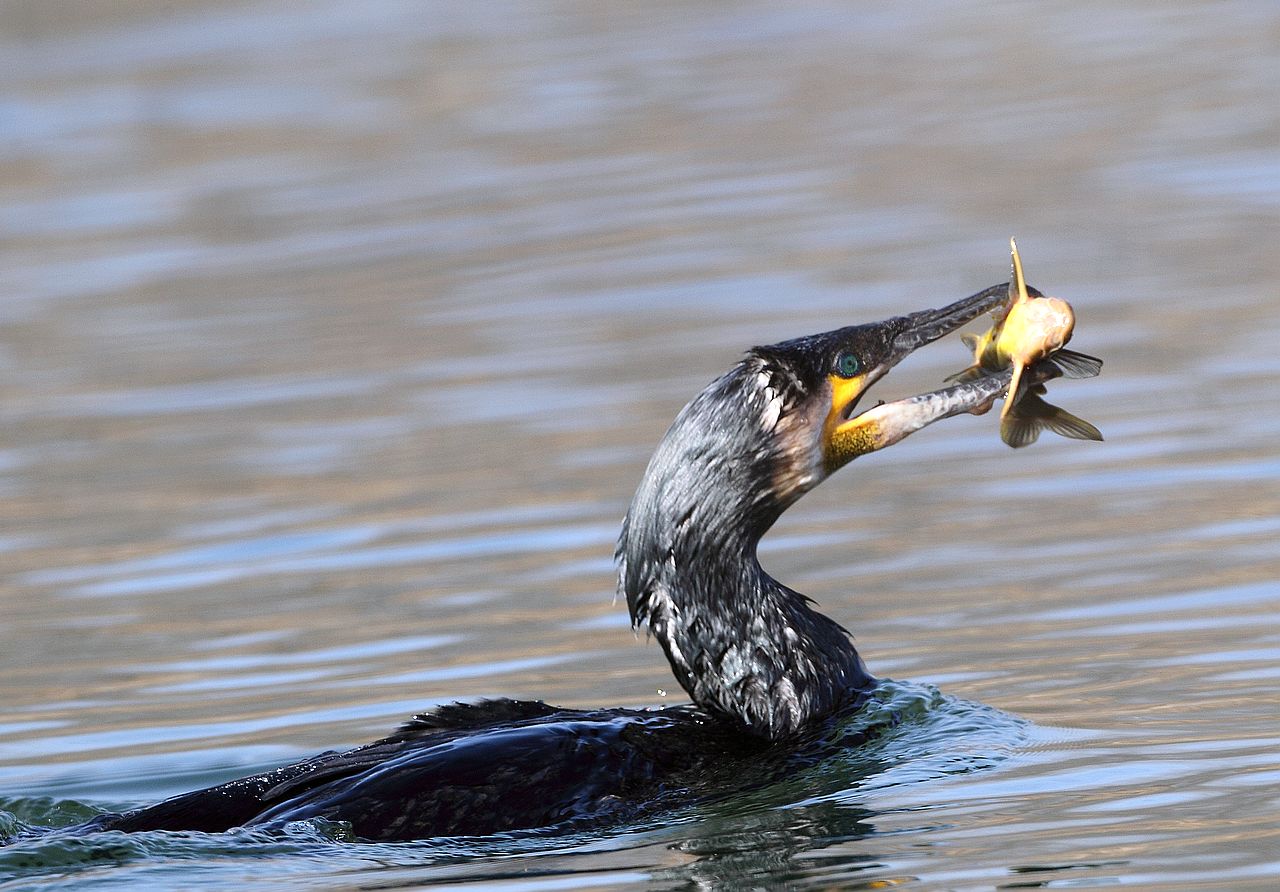
M 365 840 L 420 840 L 614 820 L 637 804 L 680 801 L 701 767 L 744 746 L 754 742 L 691 706 L 452 704 L 366 746 L 100 815 L 81 829 L 220 832 L 326 818 Z

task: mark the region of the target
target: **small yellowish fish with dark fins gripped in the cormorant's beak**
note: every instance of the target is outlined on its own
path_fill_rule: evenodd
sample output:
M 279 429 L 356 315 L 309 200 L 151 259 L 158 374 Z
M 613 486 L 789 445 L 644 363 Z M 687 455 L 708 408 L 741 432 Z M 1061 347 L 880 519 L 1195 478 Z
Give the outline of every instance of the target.
M 965 347 L 973 351 L 973 365 L 947 380 L 970 380 L 1012 366 L 1000 412 L 1000 436 L 1014 449 L 1030 445 L 1044 429 L 1071 439 L 1101 440 L 1097 427 L 1043 397 L 1046 381 L 1094 378 L 1102 370 L 1102 360 L 1065 348 L 1075 329 L 1071 305 L 1028 287 L 1018 242 L 1010 238 L 1009 248 L 1012 257 L 1009 301 L 992 314 L 995 323 L 986 333 L 963 335 Z M 1028 376 L 1028 369 L 1034 374 Z

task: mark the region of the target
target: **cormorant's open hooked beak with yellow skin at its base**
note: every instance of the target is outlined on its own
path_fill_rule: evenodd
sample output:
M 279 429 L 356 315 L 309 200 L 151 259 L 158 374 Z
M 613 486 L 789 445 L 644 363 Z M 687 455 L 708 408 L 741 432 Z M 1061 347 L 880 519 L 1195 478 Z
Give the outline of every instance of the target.
M 1009 383 L 1007 372 L 855 412 L 858 401 L 867 389 L 909 354 L 951 334 L 1007 299 L 1006 284 L 992 285 L 941 310 L 922 310 L 881 323 L 892 333 L 888 356 L 876 367 L 855 378 L 844 379 L 832 375 L 829 379 L 832 403 L 823 431 L 827 472 L 835 471 L 858 456 L 892 445 L 940 418 L 972 412 L 1000 394 Z

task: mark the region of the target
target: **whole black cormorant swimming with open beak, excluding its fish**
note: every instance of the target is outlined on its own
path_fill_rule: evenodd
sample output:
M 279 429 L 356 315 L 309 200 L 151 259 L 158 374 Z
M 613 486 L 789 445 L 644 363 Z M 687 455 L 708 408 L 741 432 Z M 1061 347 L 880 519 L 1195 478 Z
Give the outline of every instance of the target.
M 754 348 L 680 412 L 627 511 L 617 559 L 632 622 L 658 640 L 690 705 L 454 704 L 367 746 L 76 829 L 218 832 L 326 818 L 366 840 L 489 834 L 614 820 L 728 790 L 744 765 L 787 770 L 876 680 L 841 626 L 764 572 L 756 544 L 852 458 L 989 406 L 1007 370 L 856 411 L 911 351 L 1006 293 L 1001 284 L 942 310 Z

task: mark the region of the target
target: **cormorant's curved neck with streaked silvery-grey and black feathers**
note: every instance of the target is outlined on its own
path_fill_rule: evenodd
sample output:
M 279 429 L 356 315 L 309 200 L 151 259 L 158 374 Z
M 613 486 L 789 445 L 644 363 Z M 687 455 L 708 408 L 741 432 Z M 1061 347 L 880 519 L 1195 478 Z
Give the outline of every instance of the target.
M 790 500 L 764 485 L 774 440 L 737 411 L 750 406 L 741 388 L 730 376 L 713 384 L 659 445 L 618 540 L 618 587 L 694 703 L 781 738 L 872 680 L 847 632 L 756 559 L 756 543 Z

